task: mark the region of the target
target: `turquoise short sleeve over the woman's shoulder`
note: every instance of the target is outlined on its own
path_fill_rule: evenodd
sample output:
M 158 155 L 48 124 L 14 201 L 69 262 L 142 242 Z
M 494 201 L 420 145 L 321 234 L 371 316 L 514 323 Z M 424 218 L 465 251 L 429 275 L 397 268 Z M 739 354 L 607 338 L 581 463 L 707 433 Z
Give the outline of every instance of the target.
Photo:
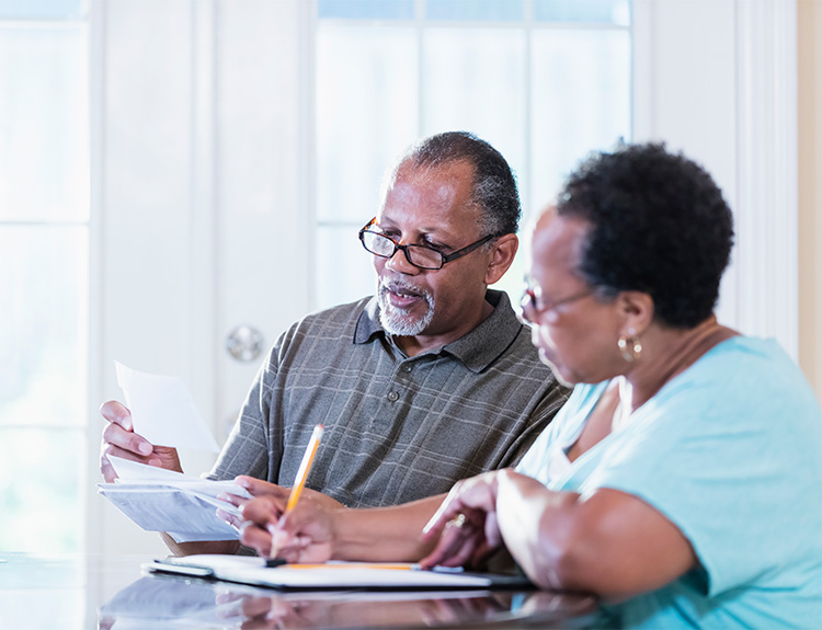
M 799 561 L 819 536 L 794 499 L 820 501 L 819 406 L 792 364 L 761 359 L 715 360 L 671 381 L 581 488 L 620 490 L 662 513 L 693 546 L 710 596 Z

